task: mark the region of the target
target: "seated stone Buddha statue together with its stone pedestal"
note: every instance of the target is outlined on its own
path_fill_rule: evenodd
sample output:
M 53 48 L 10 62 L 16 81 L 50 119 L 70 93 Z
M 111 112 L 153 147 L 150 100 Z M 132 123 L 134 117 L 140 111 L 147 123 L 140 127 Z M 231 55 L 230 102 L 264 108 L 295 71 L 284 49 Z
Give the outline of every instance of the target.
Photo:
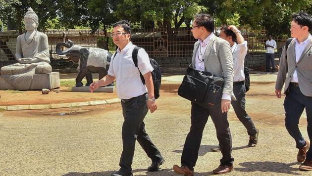
M 48 36 L 37 31 L 38 16 L 29 8 L 24 16 L 26 33 L 16 41 L 18 63 L 1 67 L 0 89 L 42 89 L 59 87 L 59 73 L 52 72 Z

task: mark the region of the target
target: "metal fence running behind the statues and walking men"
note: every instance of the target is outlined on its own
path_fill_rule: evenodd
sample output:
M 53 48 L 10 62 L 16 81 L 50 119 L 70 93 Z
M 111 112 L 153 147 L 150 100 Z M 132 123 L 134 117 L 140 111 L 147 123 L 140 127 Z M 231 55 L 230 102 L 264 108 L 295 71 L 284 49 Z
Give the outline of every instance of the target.
M 265 28 L 251 29 L 241 28 L 243 37 L 248 41 L 247 55 L 261 54 L 265 52 L 264 44 L 266 39 Z M 97 31 L 91 33 L 91 30 L 47 30 L 51 60 L 61 59 L 55 53 L 55 45 L 58 42 L 71 40 L 74 44 L 83 47 L 101 47 L 113 52 L 116 46 L 112 42 L 110 33 Z M 216 27 L 214 33 L 218 36 L 220 27 Z M 0 32 L 0 61 L 15 60 L 16 31 Z M 274 39 L 282 47 L 286 38 Z M 191 57 L 193 52 L 194 39 L 191 28 L 172 28 L 167 31 L 166 28 L 157 29 L 133 29 L 131 41 L 145 48 L 150 57 Z M 276 50 L 277 51 L 277 50 Z

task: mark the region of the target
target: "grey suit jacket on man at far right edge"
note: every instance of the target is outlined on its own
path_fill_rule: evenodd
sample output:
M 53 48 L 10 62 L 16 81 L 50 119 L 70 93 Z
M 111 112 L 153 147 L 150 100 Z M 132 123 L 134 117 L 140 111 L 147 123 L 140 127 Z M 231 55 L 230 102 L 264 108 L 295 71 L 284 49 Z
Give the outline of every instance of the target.
M 306 96 L 312 96 L 312 39 L 296 62 L 295 40 L 293 39 L 288 46 L 287 52 L 285 46 L 279 60 L 279 70 L 276 79 L 275 89 L 281 90 L 285 83 L 284 94 L 289 88 L 290 80 L 297 70 L 298 83 L 301 92 Z M 287 59 L 286 59 L 287 54 Z

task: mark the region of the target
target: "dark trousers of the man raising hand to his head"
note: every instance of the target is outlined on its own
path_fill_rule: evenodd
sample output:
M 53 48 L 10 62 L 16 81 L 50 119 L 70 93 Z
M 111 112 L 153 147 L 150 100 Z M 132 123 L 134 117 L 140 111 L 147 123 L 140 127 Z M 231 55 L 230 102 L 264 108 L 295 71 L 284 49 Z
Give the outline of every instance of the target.
M 242 83 L 242 84 L 239 84 Z M 242 124 L 247 129 L 249 135 L 256 134 L 256 127 L 252 118 L 247 114 L 245 110 L 246 104 L 246 88 L 243 82 L 234 82 L 233 93 L 236 97 L 236 101 L 231 101 L 233 109 L 237 118 L 242 122 Z

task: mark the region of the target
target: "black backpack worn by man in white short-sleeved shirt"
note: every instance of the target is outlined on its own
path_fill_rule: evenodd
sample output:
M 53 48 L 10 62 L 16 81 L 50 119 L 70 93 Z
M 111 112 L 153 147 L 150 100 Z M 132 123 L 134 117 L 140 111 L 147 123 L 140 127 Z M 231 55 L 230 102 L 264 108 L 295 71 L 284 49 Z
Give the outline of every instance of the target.
M 136 67 L 138 67 L 138 51 L 140 48 L 142 47 L 136 46 L 132 51 L 132 59 Z M 149 59 L 150 59 L 152 67 L 154 68 L 154 70 L 152 71 L 152 78 L 153 78 L 153 84 L 154 84 L 154 96 L 157 99 L 159 97 L 159 90 L 160 90 L 160 84 L 161 84 L 161 72 L 160 72 L 159 64 L 156 62 L 156 60 L 152 58 L 149 58 Z M 142 83 L 145 85 L 145 80 L 141 71 L 140 71 L 140 77 L 141 77 Z

